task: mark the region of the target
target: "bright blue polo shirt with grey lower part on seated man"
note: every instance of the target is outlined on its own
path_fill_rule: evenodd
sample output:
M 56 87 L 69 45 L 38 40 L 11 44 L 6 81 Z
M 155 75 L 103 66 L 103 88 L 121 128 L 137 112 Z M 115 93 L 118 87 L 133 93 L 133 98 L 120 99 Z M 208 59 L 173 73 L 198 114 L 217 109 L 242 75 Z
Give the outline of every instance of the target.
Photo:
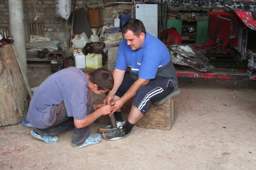
M 115 68 L 126 70 L 134 79 L 168 78 L 174 87 L 178 84 L 171 55 L 161 40 L 146 33 L 140 49 L 132 51 L 126 40 L 119 45 Z

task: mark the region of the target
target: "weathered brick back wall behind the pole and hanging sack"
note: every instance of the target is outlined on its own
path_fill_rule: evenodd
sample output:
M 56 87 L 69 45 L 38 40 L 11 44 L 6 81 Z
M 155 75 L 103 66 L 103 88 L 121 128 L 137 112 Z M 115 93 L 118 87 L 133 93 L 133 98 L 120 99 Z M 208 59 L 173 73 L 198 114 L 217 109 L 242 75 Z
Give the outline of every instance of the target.
M 74 0 L 72 0 L 72 3 Z M 76 8 L 85 8 L 87 12 L 86 0 L 76 0 Z M 70 32 L 71 30 L 71 22 L 67 22 L 66 28 L 66 20 L 55 17 L 55 0 L 34 0 L 35 8 L 33 4 L 33 0 L 24 0 L 24 22 L 25 22 L 25 37 L 26 42 L 29 41 L 28 37 L 28 25 L 26 24 L 29 20 L 33 20 L 36 16 L 35 9 L 37 11 L 37 15 L 39 15 L 39 20 L 43 20 L 44 22 L 44 32 L 45 36 L 50 36 L 52 40 L 60 40 L 62 43 L 64 38 L 64 34 Z M 73 8 L 73 4 L 72 4 Z M 116 4 L 112 6 L 106 6 L 102 8 L 103 15 L 103 24 L 108 22 L 114 22 L 114 19 L 117 14 L 123 12 L 124 10 L 130 10 L 130 4 Z M 73 11 L 73 9 L 71 9 Z M 0 0 L 0 28 L 7 27 L 9 28 L 9 9 L 8 9 L 8 0 Z

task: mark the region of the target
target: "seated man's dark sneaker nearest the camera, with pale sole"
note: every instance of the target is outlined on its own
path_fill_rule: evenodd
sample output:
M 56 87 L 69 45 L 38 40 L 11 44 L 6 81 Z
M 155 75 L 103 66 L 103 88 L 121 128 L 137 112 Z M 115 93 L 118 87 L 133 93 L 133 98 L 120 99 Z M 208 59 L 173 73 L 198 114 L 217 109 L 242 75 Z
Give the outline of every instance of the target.
M 124 129 L 122 127 L 117 127 L 114 129 L 106 130 L 105 132 L 102 133 L 102 136 L 106 140 L 117 140 L 124 138 L 129 134 L 125 134 Z

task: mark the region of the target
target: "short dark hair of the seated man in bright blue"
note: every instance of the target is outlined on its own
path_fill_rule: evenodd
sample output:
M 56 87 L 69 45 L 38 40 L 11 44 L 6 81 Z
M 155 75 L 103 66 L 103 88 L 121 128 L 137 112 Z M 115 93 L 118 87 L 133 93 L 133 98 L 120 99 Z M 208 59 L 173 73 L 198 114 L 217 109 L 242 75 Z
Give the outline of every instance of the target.
M 131 30 L 133 34 L 137 37 L 143 32 L 146 34 L 145 26 L 143 25 L 142 21 L 139 19 L 131 18 L 124 24 L 122 28 L 122 33 L 125 34 L 128 30 Z

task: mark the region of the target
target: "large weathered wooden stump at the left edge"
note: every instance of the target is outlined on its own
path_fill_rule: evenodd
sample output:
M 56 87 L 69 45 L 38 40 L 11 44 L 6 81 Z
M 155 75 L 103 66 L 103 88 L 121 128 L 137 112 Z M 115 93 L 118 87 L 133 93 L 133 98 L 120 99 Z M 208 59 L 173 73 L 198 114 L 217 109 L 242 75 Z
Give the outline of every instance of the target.
M 0 47 L 0 126 L 14 125 L 26 116 L 27 89 L 10 44 Z

